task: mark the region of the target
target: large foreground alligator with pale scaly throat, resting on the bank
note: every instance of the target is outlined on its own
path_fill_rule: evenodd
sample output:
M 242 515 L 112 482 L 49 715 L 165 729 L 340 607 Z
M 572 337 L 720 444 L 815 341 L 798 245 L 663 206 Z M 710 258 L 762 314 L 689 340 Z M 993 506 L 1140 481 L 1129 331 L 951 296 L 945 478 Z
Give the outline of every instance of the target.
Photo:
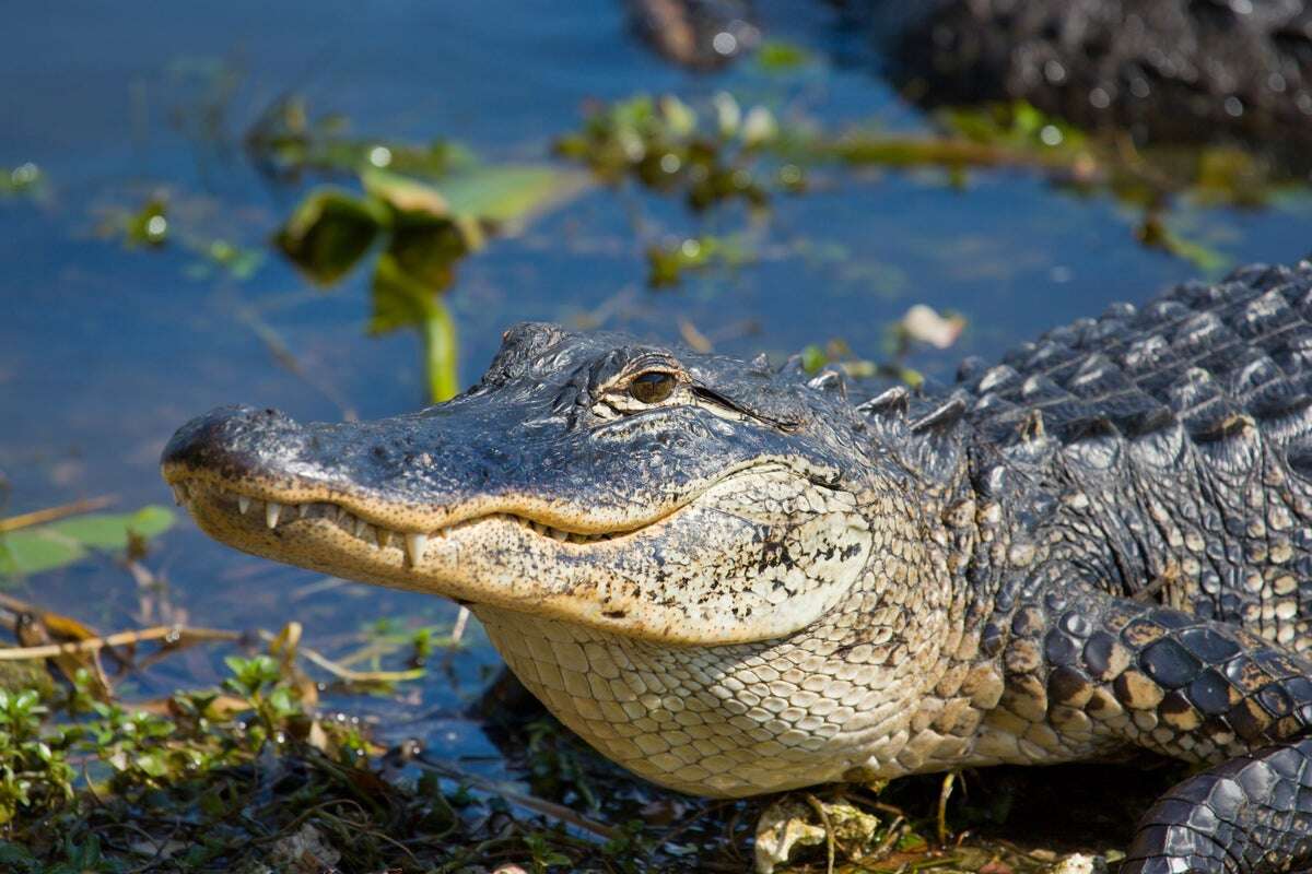
M 257 556 L 454 599 L 601 753 L 747 797 L 1148 750 L 1124 874 L 1312 860 L 1312 262 L 937 390 L 523 324 L 374 422 L 220 408 L 163 474 Z

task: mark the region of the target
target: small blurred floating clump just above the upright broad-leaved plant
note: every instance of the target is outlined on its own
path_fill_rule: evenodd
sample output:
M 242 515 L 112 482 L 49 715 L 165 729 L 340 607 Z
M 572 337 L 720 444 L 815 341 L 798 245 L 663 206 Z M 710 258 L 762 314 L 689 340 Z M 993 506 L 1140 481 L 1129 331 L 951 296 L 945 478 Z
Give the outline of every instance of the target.
M 276 101 L 245 135 L 247 153 L 264 173 L 297 181 L 310 173 L 350 176 L 367 168 L 441 178 L 468 168 L 474 156 L 446 140 L 411 144 L 377 136 L 354 136 L 345 115 L 311 115 L 304 97 Z

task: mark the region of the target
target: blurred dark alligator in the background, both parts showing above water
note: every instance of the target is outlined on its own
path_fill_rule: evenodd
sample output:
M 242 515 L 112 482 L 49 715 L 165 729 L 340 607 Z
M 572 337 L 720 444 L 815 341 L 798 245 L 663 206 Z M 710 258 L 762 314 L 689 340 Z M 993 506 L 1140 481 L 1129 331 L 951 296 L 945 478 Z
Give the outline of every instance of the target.
M 830 5 L 837 60 L 878 68 L 918 105 L 1026 101 L 1084 130 L 1128 131 L 1156 144 L 1237 140 L 1298 174 L 1308 169 L 1312 7 L 1305 0 Z M 648 46 L 701 71 L 743 56 L 774 24 L 748 0 L 625 0 L 625 7 Z

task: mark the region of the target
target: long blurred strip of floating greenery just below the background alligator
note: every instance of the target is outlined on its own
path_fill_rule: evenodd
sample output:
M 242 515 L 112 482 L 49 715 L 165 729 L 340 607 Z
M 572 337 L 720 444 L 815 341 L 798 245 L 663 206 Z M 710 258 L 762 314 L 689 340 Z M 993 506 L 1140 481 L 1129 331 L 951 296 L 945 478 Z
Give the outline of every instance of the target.
M 735 200 L 762 210 L 773 195 L 804 191 L 808 177 L 834 168 L 935 169 L 956 186 L 970 172 L 1026 170 L 1059 190 L 1131 206 L 1136 238 L 1207 274 L 1229 259 L 1168 231 L 1164 216 L 1178 207 L 1257 208 L 1304 183 L 1233 147 L 1139 151 L 1124 136 L 1089 135 L 1025 102 L 949 107 L 930 121 L 924 134 L 878 126 L 830 132 L 804 119 L 781 122 L 766 106 L 744 110 L 727 93 L 697 109 L 670 94 L 639 96 L 589 110 L 581 131 L 556 140 L 556 152 L 605 182 L 634 181 L 682 197 L 694 211 Z M 649 248 L 648 261 L 652 286 L 677 283 L 703 263 L 663 246 Z

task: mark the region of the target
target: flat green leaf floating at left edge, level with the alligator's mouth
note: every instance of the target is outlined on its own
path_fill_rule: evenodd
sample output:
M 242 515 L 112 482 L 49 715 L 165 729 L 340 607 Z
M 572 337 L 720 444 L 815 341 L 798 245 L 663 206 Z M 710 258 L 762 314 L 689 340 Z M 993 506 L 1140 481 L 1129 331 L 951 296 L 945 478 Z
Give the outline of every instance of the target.
M 0 537 L 0 574 L 39 574 L 71 565 L 92 549 L 126 549 L 129 533 L 155 537 L 173 520 L 172 510 L 151 504 L 136 512 L 97 512 L 22 528 Z

